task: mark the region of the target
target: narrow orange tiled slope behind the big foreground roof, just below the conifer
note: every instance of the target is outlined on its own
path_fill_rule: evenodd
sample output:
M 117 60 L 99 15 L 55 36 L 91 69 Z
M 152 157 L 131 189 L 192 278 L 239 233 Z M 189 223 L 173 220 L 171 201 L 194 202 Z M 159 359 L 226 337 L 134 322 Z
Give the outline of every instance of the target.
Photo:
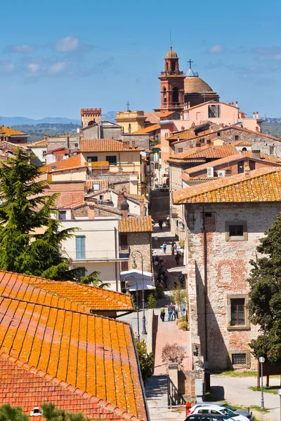
M 86 203 L 86 202 L 85 202 Z M 80 206 L 83 205 L 81 202 Z M 103 288 L 96 288 L 95 286 L 84 285 L 83 283 L 71 282 L 71 281 L 51 281 L 49 279 L 39 278 L 35 276 L 29 275 L 21 275 L 21 274 L 14 274 L 13 272 L 4 272 L 0 271 L 0 291 L 3 286 L 8 288 L 8 293 L 10 294 L 11 286 L 13 283 L 23 283 L 29 285 L 32 289 L 39 288 L 40 290 L 48 291 L 49 295 L 52 295 L 52 302 L 51 304 L 55 307 L 58 307 L 58 301 L 63 300 L 62 306 L 66 306 L 63 308 L 70 308 L 74 310 L 78 310 L 77 305 L 82 306 L 83 310 L 88 307 L 88 309 L 100 310 L 100 311 L 128 311 L 133 309 L 133 305 L 131 302 L 131 295 L 117 293 L 112 290 L 105 290 Z M 27 289 L 27 286 L 23 290 Z M 27 300 L 27 296 L 30 297 L 29 292 L 27 295 L 22 293 L 23 295 L 15 295 L 15 298 L 22 298 L 25 296 Z M 37 290 L 37 295 L 39 291 Z M 11 295 L 13 296 L 13 295 Z M 32 295 L 33 297 L 33 295 Z M 28 298 L 30 300 L 30 298 Z M 46 304 L 49 303 L 50 297 L 46 296 L 46 293 L 42 294 L 38 298 L 39 304 Z M 70 302 L 68 302 L 70 300 Z

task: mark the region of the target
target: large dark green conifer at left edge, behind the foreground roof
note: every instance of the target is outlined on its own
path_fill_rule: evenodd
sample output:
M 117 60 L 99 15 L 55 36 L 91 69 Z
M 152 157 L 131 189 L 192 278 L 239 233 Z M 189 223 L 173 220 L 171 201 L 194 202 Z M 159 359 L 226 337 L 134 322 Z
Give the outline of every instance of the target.
M 1 164 L 0 268 L 48 279 L 75 279 L 61 244 L 77 229 L 60 229 L 60 221 L 51 218 L 57 195 L 44 194 L 47 182 L 39 180 L 41 175 L 39 166 L 30 162 L 30 153 L 22 149 Z

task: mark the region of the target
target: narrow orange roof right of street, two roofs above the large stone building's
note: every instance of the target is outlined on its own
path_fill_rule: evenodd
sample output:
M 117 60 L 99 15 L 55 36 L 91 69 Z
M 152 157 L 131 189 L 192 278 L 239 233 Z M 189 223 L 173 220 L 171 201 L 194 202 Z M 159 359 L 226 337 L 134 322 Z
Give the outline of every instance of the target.
M 193 159 L 193 158 L 223 158 L 224 156 L 230 156 L 236 154 L 235 145 L 205 145 L 200 148 L 193 147 L 187 151 L 178 152 L 169 156 L 169 161 L 174 161 L 177 159 Z

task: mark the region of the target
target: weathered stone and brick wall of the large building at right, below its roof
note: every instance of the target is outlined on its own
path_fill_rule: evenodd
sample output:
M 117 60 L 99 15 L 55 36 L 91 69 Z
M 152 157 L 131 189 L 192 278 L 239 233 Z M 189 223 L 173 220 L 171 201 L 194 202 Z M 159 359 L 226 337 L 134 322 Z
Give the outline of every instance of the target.
M 259 239 L 280 210 L 281 203 L 205 205 L 204 236 L 203 206 L 186 205 L 190 328 L 195 335 L 192 342 L 197 340 L 197 335 L 200 337 L 202 354 L 211 370 L 231 368 L 233 353 L 246 354 L 247 368 L 256 367 L 249 342 L 256 338 L 258 328 L 249 323 L 230 326 L 230 298 L 241 298 L 242 295 L 247 304 L 249 260 L 256 259 Z M 242 241 L 229 241 L 226 234 L 228 222 L 246 223 Z M 207 255 L 206 262 L 204 255 Z

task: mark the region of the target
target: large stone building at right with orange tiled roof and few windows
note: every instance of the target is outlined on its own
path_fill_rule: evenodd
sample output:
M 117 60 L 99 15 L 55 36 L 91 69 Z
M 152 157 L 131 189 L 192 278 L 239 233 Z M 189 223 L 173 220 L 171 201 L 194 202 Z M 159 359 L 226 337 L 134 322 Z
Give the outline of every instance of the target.
M 247 301 L 256 246 L 281 210 L 281 168 L 259 168 L 174 193 L 184 207 L 190 333 L 210 370 L 256 368 Z

